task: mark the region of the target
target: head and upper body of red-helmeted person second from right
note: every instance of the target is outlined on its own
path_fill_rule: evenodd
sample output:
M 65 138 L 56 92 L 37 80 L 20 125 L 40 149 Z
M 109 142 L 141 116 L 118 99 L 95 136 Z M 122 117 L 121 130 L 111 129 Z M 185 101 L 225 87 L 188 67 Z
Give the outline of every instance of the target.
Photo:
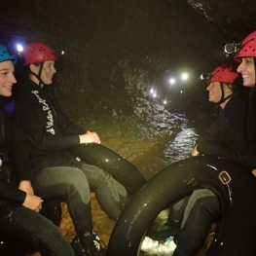
M 234 93 L 238 89 L 238 79 L 238 73 L 229 64 L 222 64 L 211 73 L 206 88 L 208 100 L 219 105 L 220 116 L 201 135 L 192 156 L 200 153 L 221 155 L 242 162 L 241 157 L 247 149 L 244 130 L 246 100 Z

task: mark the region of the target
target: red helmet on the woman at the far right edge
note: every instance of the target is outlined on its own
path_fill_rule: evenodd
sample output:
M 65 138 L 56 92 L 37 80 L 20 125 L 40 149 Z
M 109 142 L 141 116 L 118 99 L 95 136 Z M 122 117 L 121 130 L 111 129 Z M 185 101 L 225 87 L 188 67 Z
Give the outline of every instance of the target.
M 256 30 L 242 40 L 238 55 L 234 59 L 240 62 L 241 57 L 246 56 L 256 56 Z

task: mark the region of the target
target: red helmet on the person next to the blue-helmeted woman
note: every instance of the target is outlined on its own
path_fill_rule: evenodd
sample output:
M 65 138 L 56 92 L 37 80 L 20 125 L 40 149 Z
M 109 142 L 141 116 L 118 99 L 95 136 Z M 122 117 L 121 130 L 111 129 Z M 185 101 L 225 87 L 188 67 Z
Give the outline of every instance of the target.
M 28 44 L 21 56 L 25 60 L 24 66 L 56 59 L 54 50 L 50 46 L 40 42 Z

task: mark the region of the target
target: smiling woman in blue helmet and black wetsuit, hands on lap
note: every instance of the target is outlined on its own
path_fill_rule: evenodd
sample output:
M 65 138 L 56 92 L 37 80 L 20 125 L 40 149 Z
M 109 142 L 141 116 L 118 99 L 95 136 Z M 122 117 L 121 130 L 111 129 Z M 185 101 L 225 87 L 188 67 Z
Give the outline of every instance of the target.
M 59 229 L 43 215 L 39 214 L 43 200 L 33 193 L 30 181 L 33 172 L 26 149 L 26 137 L 18 128 L 14 114 L 12 95 L 17 57 L 11 55 L 0 43 L 0 231 L 1 236 L 28 244 L 38 249 L 41 255 L 74 256 L 72 246 Z M 18 147 L 13 141 L 18 140 Z M 19 156 L 19 165 L 14 157 Z M 25 246 L 25 245 L 24 245 Z M 1 255 L 18 255 L 15 248 L 1 251 Z

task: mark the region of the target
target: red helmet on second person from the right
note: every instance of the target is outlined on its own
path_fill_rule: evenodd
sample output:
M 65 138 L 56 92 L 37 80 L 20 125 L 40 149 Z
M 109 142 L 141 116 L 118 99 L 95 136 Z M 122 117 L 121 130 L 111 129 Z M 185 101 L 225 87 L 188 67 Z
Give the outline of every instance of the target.
M 222 64 L 217 66 L 212 72 L 208 80 L 208 84 L 211 82 L 223 82 L 235 84 L 238 79 L 238 73 L 234 71 L 234 68 L 230 64 Z

